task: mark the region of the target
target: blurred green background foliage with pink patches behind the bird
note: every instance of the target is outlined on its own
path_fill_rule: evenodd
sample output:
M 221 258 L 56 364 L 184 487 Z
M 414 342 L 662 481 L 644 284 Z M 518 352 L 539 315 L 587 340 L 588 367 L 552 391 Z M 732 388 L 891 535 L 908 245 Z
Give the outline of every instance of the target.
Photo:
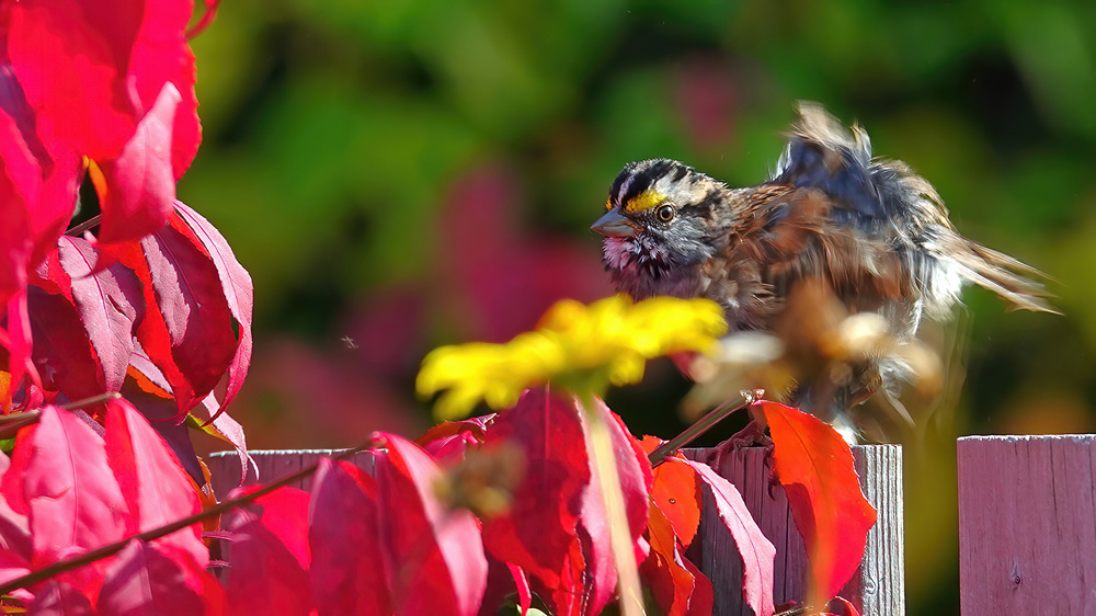
M 966 295 L 955 424 L 906 454 L 910 613 L 958 612 L 955 434 L 1096 430 L 1096 4 L 225 0 L 193 45 L 180 195 L 254 276 L 231 411 L 252 447 L 418 435 L 431 347 L 610 292 L 587 227 L 625 162 L 757 183 L 800 99 L 1049 273 L 1064 312 Z M 669 437 L 685 389 L 658 364 L 609 402 Z

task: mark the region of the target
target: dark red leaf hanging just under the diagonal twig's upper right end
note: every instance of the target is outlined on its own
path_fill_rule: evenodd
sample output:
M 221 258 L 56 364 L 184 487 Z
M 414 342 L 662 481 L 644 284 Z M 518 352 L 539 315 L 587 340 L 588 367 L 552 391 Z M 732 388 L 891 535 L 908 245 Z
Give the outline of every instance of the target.
M 349 463 L 320 460 L 308 526 L 309 575 L 320 616 L 392 613 L 386 570 L 406 555 L 384 550 L 380 515 L 372 477 Z

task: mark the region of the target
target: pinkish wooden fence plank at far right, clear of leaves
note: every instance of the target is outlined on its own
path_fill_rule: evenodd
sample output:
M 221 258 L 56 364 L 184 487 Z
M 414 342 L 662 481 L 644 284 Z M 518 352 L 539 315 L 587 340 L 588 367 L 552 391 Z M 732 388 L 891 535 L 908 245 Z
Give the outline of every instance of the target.
M 957 445 L 963 616 L 1096 614 L 1096 435 Z

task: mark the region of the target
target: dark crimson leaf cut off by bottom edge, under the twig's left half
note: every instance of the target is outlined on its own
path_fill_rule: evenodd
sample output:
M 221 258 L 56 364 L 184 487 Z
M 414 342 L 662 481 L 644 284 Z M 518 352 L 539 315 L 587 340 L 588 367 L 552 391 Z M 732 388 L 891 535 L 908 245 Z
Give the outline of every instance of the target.
M 171 557 L 136 539 L 118 552 L 106 574 L 96 606 L 102 616 L 191 616 L 208 614 L 219 596 L 207 601 L 217 582 L 185 554 Z M 213 605 L 210 605 L 213 604 Z

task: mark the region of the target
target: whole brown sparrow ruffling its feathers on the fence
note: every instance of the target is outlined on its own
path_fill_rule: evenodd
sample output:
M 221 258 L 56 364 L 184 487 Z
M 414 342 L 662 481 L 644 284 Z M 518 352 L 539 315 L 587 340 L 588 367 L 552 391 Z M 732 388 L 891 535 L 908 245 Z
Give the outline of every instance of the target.
M 631 162 L 591 228 L 618 292 L 708 298 L 732 336 L 775 336 L 785 400 L 850 442 L 869 399 L 912 421 L 898 397 L 918 331 L 950 319 L 964 285 L 1055 311 L 1041 272 L 961 236 L 932 184 L 812 102 L 796 105 L 768 180 L 730 187 L 676 160 Z

